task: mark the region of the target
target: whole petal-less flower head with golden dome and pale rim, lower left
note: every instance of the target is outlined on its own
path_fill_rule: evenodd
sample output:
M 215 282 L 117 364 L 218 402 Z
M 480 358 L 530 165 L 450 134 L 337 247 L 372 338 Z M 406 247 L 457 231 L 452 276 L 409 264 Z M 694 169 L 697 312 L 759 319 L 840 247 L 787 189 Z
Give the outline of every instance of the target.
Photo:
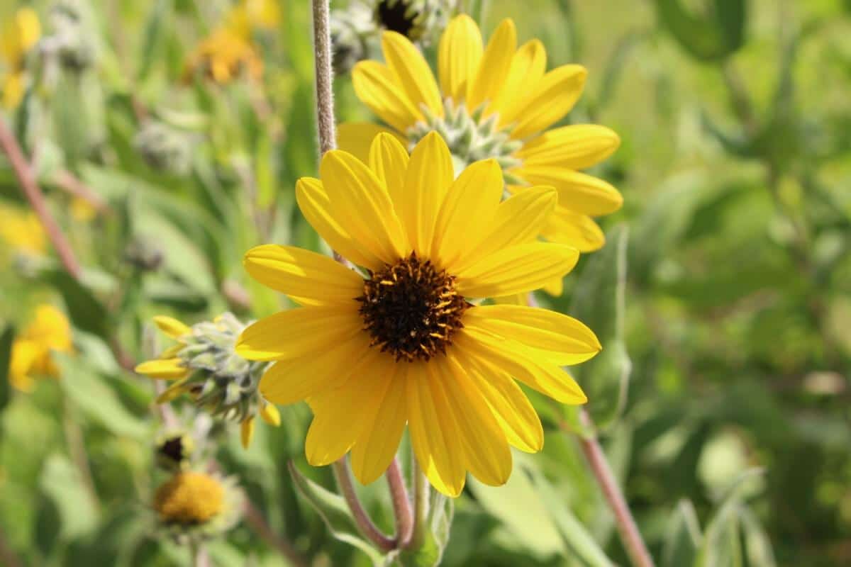
M 242 495 L 233 479 L 196 471 L 174 473 L 157 488 L 153 508 L 160 524 L 175 537 L 203 541 L 237 523 Z

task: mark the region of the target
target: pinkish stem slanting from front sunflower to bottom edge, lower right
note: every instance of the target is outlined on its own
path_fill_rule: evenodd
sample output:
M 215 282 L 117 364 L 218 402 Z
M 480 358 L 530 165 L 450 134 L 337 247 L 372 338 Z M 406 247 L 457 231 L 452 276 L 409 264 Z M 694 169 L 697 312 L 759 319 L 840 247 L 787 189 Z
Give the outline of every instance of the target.
M 585 408 L 580 410 L 580 420 L 585 428 L 593 428 L 591 416 Z M 594 435 L 589 438 L 580 436 L 580 445 L 582 452 L 585 453 L 585 458 L 591 466 L 591 471 L 594 473 L 594 478 L 597 479 L 597 484 L 603 490 L 603 496 L 606 497 L 608 506 L 612 508 L 614 513 L 615 524 L 618 526 L 620 541 L 623 542 L 626 548 L 626 553 L 630 556 L 630 560 L 635 567 L 654 567 L 653 558 L 644 544 L 641 532 L 638 531 L 635 519 L 632 518 L 629 505 L 626 503 L 624 493 L 620 490 L 617 479 L 614 478 L 612 468 L 608 464 L 606 454 L 603 452 L 603 447 Z

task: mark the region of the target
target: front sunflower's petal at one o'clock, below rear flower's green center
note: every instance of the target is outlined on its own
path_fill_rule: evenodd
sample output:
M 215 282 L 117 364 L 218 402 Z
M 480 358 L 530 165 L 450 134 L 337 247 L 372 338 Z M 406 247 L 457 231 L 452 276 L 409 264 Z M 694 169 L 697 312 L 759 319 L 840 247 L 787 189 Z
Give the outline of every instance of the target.
M 466 167 L 449 187 L 437 215 L 432 249 L 443 268 L 454 271 L 455 263 L 483 241 L 501 207 L 503 186 L 500 164 L 483 160 Z

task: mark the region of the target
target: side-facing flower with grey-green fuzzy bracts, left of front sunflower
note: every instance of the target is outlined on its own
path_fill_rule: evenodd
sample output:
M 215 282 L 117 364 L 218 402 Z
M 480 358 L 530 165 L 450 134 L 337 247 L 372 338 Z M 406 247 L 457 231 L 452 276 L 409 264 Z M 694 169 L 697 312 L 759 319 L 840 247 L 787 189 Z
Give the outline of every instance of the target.
M 240 320 L 225 313 L 213 321 L 187 326 L 161 315 L 154 317 L 154 323 L 177 341 L 156 360 L 135 368 L 148 377 L 174 381 L 157 398 L 158 403 L 190 394 L 195 405 L 212 416 L 239 422 L 240 439 L 246 448 L 254 437 L 255 416 L 280 426 L 277 407 L 266 401 L 257 388 L 266 364 L 249 362 L 234 350 L 237 337 L 245 328 Z

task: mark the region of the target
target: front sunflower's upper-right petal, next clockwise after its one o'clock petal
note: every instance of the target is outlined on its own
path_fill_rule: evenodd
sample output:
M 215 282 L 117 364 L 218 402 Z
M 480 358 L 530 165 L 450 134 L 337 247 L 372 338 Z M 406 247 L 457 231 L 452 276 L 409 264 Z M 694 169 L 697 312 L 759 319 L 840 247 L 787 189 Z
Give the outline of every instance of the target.
M 555 211 L 557 199 L 556 190 L 551 187 L 529 187 L 502 201 L 482 243 L 460 259 L 455 271 L 461 272 L 500 250 L 534 241 Z

